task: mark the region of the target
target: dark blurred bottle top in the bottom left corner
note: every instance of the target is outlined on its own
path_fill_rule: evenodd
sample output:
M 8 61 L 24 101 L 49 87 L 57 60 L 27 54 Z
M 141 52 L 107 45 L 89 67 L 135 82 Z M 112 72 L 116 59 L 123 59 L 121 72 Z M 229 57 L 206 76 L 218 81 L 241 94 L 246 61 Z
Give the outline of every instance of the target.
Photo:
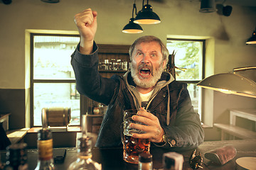
M 18 143 L 6 147 L 5 170 L 28 170 L 26 143 Z

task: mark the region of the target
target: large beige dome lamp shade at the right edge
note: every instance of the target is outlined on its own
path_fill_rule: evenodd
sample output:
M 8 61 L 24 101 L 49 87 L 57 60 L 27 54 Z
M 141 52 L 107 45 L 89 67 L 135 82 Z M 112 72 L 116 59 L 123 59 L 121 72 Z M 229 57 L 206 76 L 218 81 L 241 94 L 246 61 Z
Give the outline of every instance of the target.
M 215 74 L 200 81 L 197 86 L 225 94 L 236 94 L 256 98 L 256 83 L 240 74 L 223 73 Z

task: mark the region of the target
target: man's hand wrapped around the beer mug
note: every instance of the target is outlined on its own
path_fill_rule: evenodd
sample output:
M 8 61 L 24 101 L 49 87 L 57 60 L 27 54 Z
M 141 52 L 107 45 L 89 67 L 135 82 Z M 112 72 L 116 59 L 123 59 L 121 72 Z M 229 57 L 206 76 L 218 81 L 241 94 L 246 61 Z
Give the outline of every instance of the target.
M 144 123 L 144 125 L 131 123 L 132 128 L 146 132 L 144 134 L 134 133 L 132 137 L 149 139 L 151 142 L 161 142 L 164 130 L 155 115 L 146 112 L 144 108 L 140 108 L 137 115 L 132 116 L 132 120 Z

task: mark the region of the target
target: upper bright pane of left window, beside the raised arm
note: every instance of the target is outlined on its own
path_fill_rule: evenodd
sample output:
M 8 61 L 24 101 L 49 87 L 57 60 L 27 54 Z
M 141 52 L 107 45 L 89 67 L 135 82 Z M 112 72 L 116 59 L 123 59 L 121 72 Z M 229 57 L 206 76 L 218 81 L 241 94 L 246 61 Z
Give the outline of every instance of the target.
M 35 35 L 33 79 L 75 79 L 70 56 L 78 37 Z

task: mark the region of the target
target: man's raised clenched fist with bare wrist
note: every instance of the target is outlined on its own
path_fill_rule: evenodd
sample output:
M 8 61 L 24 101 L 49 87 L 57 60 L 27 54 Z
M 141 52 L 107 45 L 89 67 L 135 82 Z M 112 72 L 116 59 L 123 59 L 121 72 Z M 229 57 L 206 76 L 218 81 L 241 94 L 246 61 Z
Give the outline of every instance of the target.
M 97 12 L 88 8 L 77 13 L 74 20 L 81 37 L 79 51 L 82 54 L 90 55 L 97 30 Z

